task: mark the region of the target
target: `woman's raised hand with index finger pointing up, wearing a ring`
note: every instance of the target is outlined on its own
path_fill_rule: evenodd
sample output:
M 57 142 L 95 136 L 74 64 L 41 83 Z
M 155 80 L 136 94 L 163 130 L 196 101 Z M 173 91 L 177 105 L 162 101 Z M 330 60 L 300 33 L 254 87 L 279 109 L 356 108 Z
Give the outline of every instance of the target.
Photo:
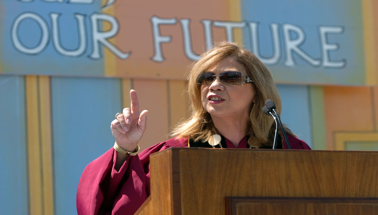
M 139 114 L 138 96 L 135 90 L 130 90 L 131 109 L 124 108 L 110 124 L 112 134 L 119 147 L 133 152 L 146 131 L 147 110 Z

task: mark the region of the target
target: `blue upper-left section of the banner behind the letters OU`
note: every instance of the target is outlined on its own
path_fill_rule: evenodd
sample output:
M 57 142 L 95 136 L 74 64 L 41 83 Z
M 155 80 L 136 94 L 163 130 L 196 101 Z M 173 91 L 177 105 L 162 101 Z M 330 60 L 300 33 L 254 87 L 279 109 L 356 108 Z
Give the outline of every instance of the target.
M 0 52 L 3 54 L 0 55 L 0 61 L 2 62 L 0 70 L 2 73 L 92 77 L 104 75 L 104 58 L 93 60 L 88 57 L 93 50 L 90 17 L 95 12 L 102 12 L 101 3 L 101 1 L 93 1 L 90 4 L 77 4 L 70 3 L 68 0 L 63 2 L 1 0 Z M 43 46 L 43 50 L 36 54 L 26 54 L 16 49 L 11 37 L 15 20 L 26 12 L 42 18 L 48 28 L 48 42 Z M 57 52 L 53 45 L 51 13 L 60 14 L 58 19 L 60 45 L 70 51 L 76 50 L 80 45 L 79 30 L 74 15 L 85 15 L 84 31 L 86 41 L 83 54 L 70 57 Z M 101 22 L 99 22 L 99 28 L 101 29 Z M 17 35 L 20 43 L 24 47 L 31 49 L 40 44 L 42 29 L 35 20 L 26 18 L 20 22 Z M 102 46 L 100 47 L 101 54 L 104 55 L 104 50 Z

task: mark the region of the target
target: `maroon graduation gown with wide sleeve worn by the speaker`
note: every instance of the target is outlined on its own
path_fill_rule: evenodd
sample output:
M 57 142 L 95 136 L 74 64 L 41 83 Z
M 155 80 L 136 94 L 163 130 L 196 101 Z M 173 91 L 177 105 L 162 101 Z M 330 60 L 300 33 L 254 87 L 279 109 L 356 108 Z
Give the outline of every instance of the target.
M 288 135 L 292 149 L 311 149 L 304 141 Z M 235 148 L 225 138 L 227 148 Z M 132 215 L 150 195 L 150 155 L 169 147 L 188 147 L 187 138 L 172 138 L 129 156 L 121 169 L 115 170 L 113 148 L 92 161 L 81 175 L 76 195 L 78 215 Z M 238 148 L 246 148 L 246 137 Z M 283 148 L 287 149 L 285 140 Z

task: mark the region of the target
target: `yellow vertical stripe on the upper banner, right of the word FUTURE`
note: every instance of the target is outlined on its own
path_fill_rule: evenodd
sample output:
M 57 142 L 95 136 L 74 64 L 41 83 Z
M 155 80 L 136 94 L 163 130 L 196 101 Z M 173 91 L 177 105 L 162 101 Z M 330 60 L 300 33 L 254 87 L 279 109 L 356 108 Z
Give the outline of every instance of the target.
M 365 84 L 377 84 L 377 75 L 375 71 L 375 41 L 374 41 L 374 20 L 373 5 L 371 0 L 362 1 L 362 14 L 364 26 L 364 54 L 366 77 Z

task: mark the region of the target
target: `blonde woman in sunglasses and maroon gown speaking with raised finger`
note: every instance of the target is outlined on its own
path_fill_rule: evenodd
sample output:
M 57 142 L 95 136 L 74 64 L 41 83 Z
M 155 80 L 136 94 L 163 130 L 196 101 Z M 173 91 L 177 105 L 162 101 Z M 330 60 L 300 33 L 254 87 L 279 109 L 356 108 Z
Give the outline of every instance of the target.
M 138 141 L 146 130 L 147 110 L 139 113 L 130 91 L 131 109 L 111 123 L 114 148 L 88 164 L 77 190 L 77 212 L 133 214 L 149 196 L 149 155 L 169 147 L 272 148 L 273 119 L 262 112 L 265 100 L 281 101 L 265 65 L 237 43 L 221 42 L 194 63 L 188 92 L 191 117 L 178 124 L 174 138 L 138 156 Z M 310 149 L 286 128 L 293 149 Z M 216 136 L 221 135 L 221 140 Z M 287 149 L 279 135 L 280 148 Z

